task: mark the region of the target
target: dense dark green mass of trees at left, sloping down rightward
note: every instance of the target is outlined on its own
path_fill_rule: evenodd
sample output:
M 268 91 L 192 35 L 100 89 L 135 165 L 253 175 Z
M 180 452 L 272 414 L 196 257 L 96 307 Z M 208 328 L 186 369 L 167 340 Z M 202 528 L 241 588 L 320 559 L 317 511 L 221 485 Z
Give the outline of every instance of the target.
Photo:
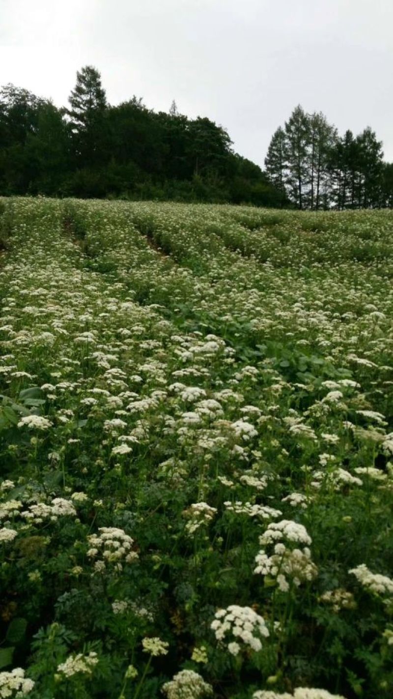
M 233 152 L 223 127 L 189 119 L 175 103 L 168 113 L 135 96 L 112 106 L 93 66 L 77 72 L 64 108 L 1 88 L 0 194 L 286 203 L 258 165 Z

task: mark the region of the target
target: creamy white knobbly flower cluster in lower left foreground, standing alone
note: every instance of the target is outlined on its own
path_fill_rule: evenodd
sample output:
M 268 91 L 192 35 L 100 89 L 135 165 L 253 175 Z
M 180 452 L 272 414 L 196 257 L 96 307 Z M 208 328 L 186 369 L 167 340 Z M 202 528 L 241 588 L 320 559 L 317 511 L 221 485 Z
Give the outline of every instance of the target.
M 96 559 L 101 554 L 102 559 L 96 560 L 94 568 L 96 572 L 103 572 L 106 563 L 114 563 L 116 570 L 122 570 L 120 561 L 133 563 L 138 559 L 138 554 L 132 551 L 134 540 L 123 529 L 103 526 L 98 529 L 99 535 L 91 534 L 87 537 L 91 549 L 87 552 L 90 559 Z

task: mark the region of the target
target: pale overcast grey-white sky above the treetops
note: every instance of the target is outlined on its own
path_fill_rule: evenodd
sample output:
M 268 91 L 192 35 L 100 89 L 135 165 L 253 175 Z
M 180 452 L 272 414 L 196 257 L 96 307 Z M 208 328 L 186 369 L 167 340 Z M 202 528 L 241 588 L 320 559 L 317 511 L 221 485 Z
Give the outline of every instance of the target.
M 393 0 L 0 0 L 0 85 L 61 106 L 91 64 L 110 103 L 175 99 L 260 165 L 298 103 L 393 161 L 392 55 Z

